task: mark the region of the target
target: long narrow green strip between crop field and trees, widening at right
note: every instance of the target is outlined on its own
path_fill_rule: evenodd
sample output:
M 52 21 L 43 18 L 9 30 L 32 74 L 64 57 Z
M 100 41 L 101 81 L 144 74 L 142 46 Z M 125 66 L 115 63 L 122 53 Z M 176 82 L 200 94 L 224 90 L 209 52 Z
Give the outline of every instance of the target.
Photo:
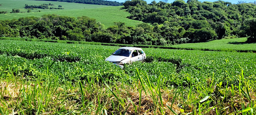
M 70 40 L 48 40 L 48 39 L 32 39 L 32 38 L 10 38 L 0 37 L 0 40 L 20 40 L 33 42 L 54 42 L 66 44 L 90 44 L 90 45 L 104 45 L 104 46 L 119 46 L 119 47 L 139 47 L 139 48 L 162 48 L 162 49 L 177 49 L 177 50 L 202 50 L 202 51 L 221 51 L 221 52 L 256 52 L 255 45 L 246 44 L 246 38 L 233 38 L 228 40 L 214 40 L 203 43 L 179 44 L 173 46 L 156 46 L 156 45 L 142 45 L 142 44 L 114 44 L 114 43 L 100 43 L 100 42 L 85 42 L 85 41 L 70 41 Z M 240 42 L 234 42 L 240 41 Z M 234 43 L 233 43 L 234 42 Z

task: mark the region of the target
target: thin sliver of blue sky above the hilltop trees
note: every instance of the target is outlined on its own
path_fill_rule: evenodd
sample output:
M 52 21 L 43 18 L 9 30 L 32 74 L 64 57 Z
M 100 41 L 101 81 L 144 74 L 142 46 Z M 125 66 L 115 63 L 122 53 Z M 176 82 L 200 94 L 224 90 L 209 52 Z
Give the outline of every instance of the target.
M 116 1 L 116 2 L 125 2 L 126 0 L 110 0 L 110 1 Z M 145 0 L 149 3 L 151 3 L 153 0 Z M 161 0 L 156 0 L 156 2 L 159 2 Z M 172 3 L 173 1 L 175 0 L 168 0 L 169 3 Z M 187 2 L 187 0 L 184 0 L 185 2 Z M 215 1 L 218 1 L 218 0 L 198 0 L 200 2 L 204 2 L 204 1 L 208 1 L 208 2 L 215 2 Z M 225 2 L 231 2 L 232 4 L 236 4 L 238 1 L 245 1 L 245 2 L 254 2 L 256 0 L 222 0 L 222 1 L 225 1 Z

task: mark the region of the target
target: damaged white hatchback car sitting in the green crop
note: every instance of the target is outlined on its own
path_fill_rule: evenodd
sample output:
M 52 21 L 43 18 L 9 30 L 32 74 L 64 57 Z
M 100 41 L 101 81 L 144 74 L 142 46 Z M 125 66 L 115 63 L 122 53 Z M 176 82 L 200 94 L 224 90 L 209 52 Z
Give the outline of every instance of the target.
M 126 63 L 144 61 L 145 59 L 146 54 L 141 48 L 123 47 L 116 50 L 116 52 L 106 58 L 105 61 L 113 62 L 123 68 Z

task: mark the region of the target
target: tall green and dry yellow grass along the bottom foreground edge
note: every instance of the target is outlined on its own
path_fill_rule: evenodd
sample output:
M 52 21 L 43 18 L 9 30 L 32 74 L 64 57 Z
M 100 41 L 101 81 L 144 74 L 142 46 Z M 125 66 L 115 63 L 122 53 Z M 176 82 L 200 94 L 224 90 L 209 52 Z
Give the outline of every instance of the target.
M 216 83 L 214 75 L 207 85 L 193 85 L 190 75 L 189 86 L 167 89 L 161 73 L 154 84 L 146 72 L 138 69 L 134 70 L 137 73 L 134 84 L 109 83 L 101 71 L 90 79 L 60 82 L 63 76 L 49 71 L 54 64 L 57 63 L 49 64 L 46 73 L 28 76 L 14 75 L 14 69 L 6 61 L 0 75 L 0 114 L 254 115 L 256 112 L 255 81 L 246 79 L 242 69 L 238 85 Z

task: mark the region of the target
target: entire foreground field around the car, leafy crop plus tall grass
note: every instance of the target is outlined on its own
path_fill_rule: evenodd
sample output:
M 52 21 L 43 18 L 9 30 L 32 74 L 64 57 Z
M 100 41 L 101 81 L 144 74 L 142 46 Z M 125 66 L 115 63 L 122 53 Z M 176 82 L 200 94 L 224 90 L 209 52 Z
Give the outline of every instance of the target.
M 254 53 L 143 48 L 146 62 L 120 69 L 104 61 L 117 46 L 0 44 L 0 110 L 5 114 L 256 111 Z

